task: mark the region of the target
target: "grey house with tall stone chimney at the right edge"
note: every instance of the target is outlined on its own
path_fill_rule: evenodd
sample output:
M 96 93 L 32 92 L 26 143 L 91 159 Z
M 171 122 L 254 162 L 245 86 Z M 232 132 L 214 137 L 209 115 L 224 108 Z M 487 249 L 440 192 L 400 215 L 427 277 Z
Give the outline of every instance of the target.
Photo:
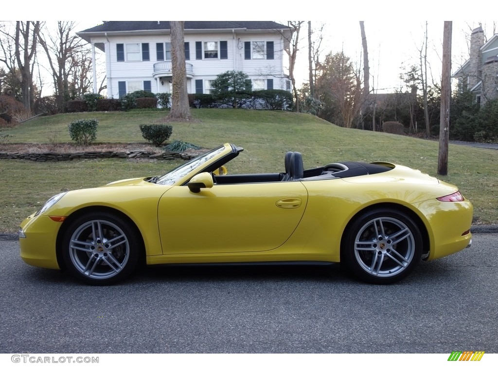
M 470 58 L 452 76 L 459 90 L 470 90 L 480 104 L 498 98 L 498 34 L 485 40 L 481 26 L 472 31 Z

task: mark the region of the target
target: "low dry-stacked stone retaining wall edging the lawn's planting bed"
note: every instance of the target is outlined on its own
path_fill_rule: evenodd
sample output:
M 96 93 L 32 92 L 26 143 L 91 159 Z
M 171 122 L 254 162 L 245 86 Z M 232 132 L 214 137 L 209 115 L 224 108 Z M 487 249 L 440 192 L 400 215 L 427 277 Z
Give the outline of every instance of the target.
M 195 156 L 186 153 L 163 152 L 151 153 L 144 150 L 136 151 L 88 151 L 76 153 L 22 153 L 22 152 L 0 152 L 0 159 L 19 159 L 30 161 L 71 161 L 78 159 L 98 159 L 98 158 L 120 158 L 120 159 L 157 159 L 157 160 L 173 160 L 183 159 L 190 160 Z

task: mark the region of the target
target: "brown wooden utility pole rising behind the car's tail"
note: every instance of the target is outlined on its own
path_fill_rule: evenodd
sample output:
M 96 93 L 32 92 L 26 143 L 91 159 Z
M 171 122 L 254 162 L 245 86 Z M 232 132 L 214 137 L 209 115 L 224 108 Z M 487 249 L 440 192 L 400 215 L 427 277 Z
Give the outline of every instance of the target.
M 451 31 L 452 21 L 444 21 L 441 115 L 439 122 L 439 158 L 437 166 L 437 174 L 441 176 L 448 175 L 448 143 L 450 138 L 451 99 Z

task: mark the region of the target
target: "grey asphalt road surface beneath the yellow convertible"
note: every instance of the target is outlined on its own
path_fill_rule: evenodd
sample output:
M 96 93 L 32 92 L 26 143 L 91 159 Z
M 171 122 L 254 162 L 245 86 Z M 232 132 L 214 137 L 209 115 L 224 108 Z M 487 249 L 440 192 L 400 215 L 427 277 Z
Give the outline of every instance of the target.
M 0 353 L 498 353 L 497 234 L 401 283 L 332 267 L 161 267 L 112 287 L 0 241 Z

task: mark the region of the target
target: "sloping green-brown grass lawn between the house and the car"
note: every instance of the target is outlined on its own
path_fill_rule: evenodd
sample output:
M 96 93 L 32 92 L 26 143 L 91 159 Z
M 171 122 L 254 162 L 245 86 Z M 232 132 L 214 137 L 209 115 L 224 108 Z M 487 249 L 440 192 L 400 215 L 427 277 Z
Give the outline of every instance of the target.
M 82 118 L 99 121 L 97 142 L 144 142 L 138 125 L 168 112 L 68 113 L 39 117 L 8 129 L 11 143 L 70 142 L 67 125 Z M 289 112 L 244 109 L 192 110 L 195 121 L 169 123 L 170 141 L 188 141 L 205 148 L 230 142 L 245 151 L 228 165 L 229 173 L 283 171 L 285 152 L 303 154 L 305 168 L 337 161 L 388 161 L 436 175 L 438 143 L 405 136 L 345 129 L 316 117 Z M 1 151 L 1 148 L 0 148 Z M 475 208 L 478 223 L 498 223 L 497 150 L 450 145 L 448 176 Z M 14 232 L 19 222 L 61 189 L 95 187 L 108 182 L 163 174 L 181 161 L 123 159 L 35 163 L 0 160 L 2 204 L 0 232 Z

